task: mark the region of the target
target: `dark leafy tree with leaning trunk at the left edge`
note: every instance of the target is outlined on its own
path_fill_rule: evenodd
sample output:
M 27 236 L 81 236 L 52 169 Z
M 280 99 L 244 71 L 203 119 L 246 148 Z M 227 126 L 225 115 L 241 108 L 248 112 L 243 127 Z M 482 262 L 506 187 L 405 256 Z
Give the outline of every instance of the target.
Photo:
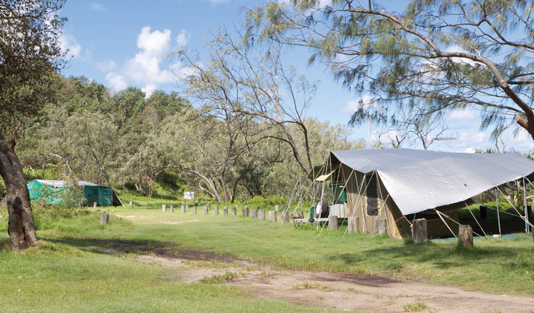
M 0 175 L 6 184 L 12 250 L 38 244 L 29 191 L 15 153 L 24 122 L 49 99 L 49 83 L 61 66 L 58 37 L 64 0 L 0 2 Z

